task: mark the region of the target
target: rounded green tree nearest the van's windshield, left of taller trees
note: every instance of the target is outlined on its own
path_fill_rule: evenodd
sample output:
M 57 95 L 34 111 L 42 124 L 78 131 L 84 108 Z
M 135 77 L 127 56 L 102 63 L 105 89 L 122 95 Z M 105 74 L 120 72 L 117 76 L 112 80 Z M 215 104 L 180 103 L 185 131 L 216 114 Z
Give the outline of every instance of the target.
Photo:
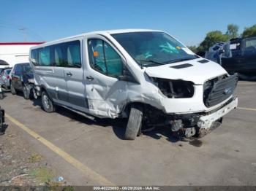
M 206 38 L 203 42 L 200 43 L 200 46 L 197 48 L 198 51 L 206 51 L 209 47 L 213 46 L 217 42 L 226 42 L 229 39 L 229 36 L 222 34 L 221 31 L 211 31 L 206 34 Z

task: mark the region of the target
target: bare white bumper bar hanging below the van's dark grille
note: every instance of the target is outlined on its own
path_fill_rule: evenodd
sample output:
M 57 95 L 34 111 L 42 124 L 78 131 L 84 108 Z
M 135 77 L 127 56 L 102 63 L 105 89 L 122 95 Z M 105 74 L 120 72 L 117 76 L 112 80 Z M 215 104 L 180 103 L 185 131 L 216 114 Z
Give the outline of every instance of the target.
M 215 121 L 219 120 L 225 114 L 235 109 L 238 106 L 238 98 L 233 98 L 229 104 L 223 106 L 214 113 L 203 115 L 199 118 L 197 122 L 198 128 L 211 128 Z

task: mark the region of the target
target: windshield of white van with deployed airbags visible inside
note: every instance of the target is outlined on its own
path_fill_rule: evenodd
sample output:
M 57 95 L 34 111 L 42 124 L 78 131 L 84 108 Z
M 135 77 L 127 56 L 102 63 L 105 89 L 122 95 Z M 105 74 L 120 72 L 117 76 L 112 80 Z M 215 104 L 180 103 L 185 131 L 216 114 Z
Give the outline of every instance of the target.
M 131 32 L 112 36 L 141 66 L 159 66 L 198 58 L 164 32 Z

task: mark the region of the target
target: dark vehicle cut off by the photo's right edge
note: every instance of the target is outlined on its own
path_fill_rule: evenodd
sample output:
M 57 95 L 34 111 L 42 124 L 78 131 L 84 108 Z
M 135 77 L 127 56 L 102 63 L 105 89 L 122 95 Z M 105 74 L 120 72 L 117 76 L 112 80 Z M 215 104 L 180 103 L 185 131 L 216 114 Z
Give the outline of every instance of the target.
M 230 40 L 231 57 L 222 57 L 222 67 L 230 74 L 238 72 L 241 79 L 256 79 L 256 37 Z

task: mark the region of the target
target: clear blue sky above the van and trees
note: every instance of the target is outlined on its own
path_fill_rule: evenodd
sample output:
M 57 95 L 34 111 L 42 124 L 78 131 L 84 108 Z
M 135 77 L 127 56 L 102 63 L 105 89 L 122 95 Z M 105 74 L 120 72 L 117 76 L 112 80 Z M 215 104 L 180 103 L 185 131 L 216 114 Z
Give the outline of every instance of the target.
M 42 42 L 120 28 L 166 31 L 198 45 L 208 31 L 256 24 L 255 0 L 0 0 L 0 42 Z

